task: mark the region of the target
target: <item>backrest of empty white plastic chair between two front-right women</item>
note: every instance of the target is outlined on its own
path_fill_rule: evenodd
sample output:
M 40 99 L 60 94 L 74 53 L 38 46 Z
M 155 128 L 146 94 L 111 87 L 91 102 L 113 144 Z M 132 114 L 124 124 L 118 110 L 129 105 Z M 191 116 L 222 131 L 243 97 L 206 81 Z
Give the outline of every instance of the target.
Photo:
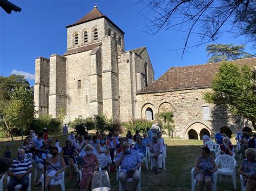
M 237 164 L 237 161 L 227 154 L 221 154 L 216 159 L 215 162 L 217 165 L 220 165 L 221 169 L 231 171 L 235 167 L 235 164 Z

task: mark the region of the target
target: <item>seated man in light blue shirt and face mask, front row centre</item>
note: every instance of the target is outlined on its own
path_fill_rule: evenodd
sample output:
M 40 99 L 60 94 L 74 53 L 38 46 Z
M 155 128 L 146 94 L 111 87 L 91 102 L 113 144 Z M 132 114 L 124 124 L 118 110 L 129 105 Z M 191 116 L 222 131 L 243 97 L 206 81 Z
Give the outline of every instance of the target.
M 124 151 L 120 152 L 116 157 L 116 167 L 119 168 L 119 166 L 121 166 L 119 180 L 124 190 L 136 190 L 140 179 L 138 169 L 142 165 L 142 159 L 137 151 L 131 150 L 129 143 L 124 142 L 122 146 Z M 133 179 L 132 189 L 127 185 L 127 178 Z

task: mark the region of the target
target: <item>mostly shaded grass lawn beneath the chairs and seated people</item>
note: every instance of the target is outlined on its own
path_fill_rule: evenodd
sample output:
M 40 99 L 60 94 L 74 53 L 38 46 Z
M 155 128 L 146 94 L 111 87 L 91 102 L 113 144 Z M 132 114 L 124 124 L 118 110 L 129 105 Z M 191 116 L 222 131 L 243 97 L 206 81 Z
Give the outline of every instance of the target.
M 60 135 L 50 135 L 49 137 L 59 138 L 60 145 L 64 146 L 65 139 Z M 146 166 L 142 167 L 142 190 L 191 190 L 191 169 L 194 165 L 194 161 L 200 154 L 200 146 L 202 140 L 184 140 L 184 139 L 165 139 L 167 144 L 167 159 L 166 159 L 166 171 L 155 175 L 151 171 L 146 171 Z M 11 144 L 11 156 L 16 158 L 17 148 L 22 144 L 21 137 L 16 137 L 14 141 L 11 139 L 1 139 L 0 141 L 0 157 L 3 157 L 5 145 Z M 54 144 L 53 144 L 54 145 Z M 241 164 L 241 160 L 238 156 L 235 157 L 237 164 Z M 150 165 L 149 165 L 150 166 Z M 237 167 L 238 169 L 238 167 Z M 76 175 L 73 174 L 73 180 L 68 179 L 69 170 L 65 173 L 65 187 L 66 190 L 78 190 L 75 187 Z M 32 179 L 33 180 L 33 172 Z M 111 190 L 118 190 L 118 181 L 116 181 L 116 173 L 109 173 L 111 181 Z M 219 179 L 218 179 L 219 180 Z M 4 180 L 4 187 L 6 188 L 6 178 Z M 41 188 L 35 187 L 35 183 L 32 181 L 32 190 L 41 190 Z M 60 186 L 56 186 L 56 191 L 61 190 Z M 217 190 L 234 190 L 232 178 L 221 178 L 221 182 L 217 183 Z M 237 190 L 240 190 L 240 179 L 237 174 Z

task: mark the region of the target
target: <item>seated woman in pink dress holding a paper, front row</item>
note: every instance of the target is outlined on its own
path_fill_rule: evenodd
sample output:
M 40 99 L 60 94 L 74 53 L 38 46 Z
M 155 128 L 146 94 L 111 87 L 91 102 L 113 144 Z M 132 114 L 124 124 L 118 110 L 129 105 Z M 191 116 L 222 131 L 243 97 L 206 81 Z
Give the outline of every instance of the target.
M 82 180 L 80 181 L 79 187 L 83 190 L 89 190 L 91 187 L 91 181 L 93 178 L 94 172 L 99 167 L 99 160 L 96 156 L 96 154 L 92 154 L 93 146 L 90 144 L 87 144 L 84 148 L 86 155 L 84 156 L 84 160 L 86 164 L 83 166 L 82 171 Z M 97 164 L 97 165 L 96 165 Z

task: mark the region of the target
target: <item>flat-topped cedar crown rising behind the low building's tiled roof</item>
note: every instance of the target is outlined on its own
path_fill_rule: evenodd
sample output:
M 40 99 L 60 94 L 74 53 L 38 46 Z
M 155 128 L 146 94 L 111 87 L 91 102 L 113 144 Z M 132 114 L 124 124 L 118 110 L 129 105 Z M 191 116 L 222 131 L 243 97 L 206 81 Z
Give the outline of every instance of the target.
M 220 62 L 226 60 L 237 60 L 241 58 L 252 58 L 253 55 L 244 52 L 245 45 L 234 44 L 210 44 L 207 45 L 207 56 L 211 55 L 208 62 Z

